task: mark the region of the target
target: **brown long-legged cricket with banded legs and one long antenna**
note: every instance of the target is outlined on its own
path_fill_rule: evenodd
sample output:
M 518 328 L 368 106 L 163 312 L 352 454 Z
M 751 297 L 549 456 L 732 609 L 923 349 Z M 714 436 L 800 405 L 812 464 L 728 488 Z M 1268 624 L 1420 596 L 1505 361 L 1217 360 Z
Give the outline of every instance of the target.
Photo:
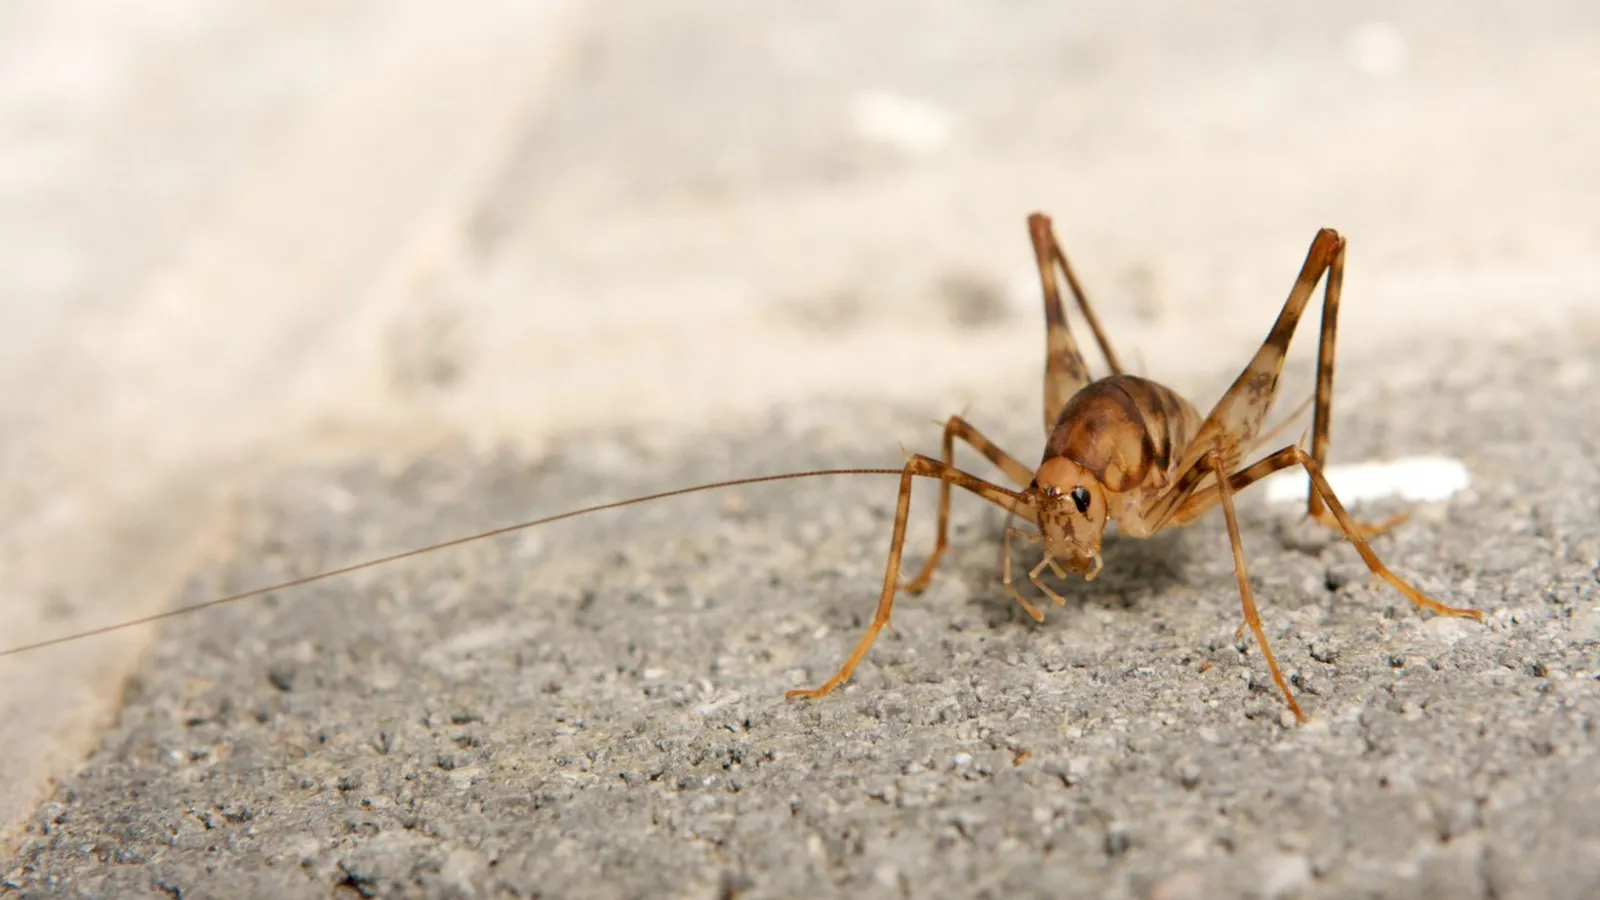
M 1272 647 L 1261 626 L 1254 593 L 1250 588 L 1250 570 L 1240 540 L 1238 517 L 1234 511 L 1234 495 L 1251 484 L 1280 469 L 1302 468 L 1310 479 L 1307 514 L 1317 522 L 1342 532 L 1376 577 L 1387 581 L 1422 609 L 1442 615 L 1483 620 L 1482 612 L 1440 604 L 1392 573 L 1378 559 L 1378 554 L 1373 552 L 1366 538 L 1387 530 L 1403 517 L 1397 516 L 1379 524 L 1355 522 L 1346 512 L 1339 498 L 1334 496 L 1333 488 L 1323 476 L 1322 469 L 1328 453 L 1330 415 L 1333 407 L 1334 335 L 1339 293 L 1344 282 L 1346 242 L 1338 232 L 1331 229 L 1317 232 L 1294 280 L 1294 287 L 1278 311 L 1278 317 L 1267 333 L 1266 341 L 1262 341 L 1254 357 L 1245 365 L 1245 370 L 1227 392 L 1202 418 L 1189 400 L 1170 388 L 1123 372 L 1110 341 L 1106 340 L 1099 319 L 1094 315 L 1077 275 L 1067 263 L 1066 253 L 1062 253 L 1056 240 L 1050 218 L 1034 213 L 1029 216 L 1027 224 L 1038 264 L 1046 320 L 1045 432 L 1048 437 L 1043 456 L 1034 469 L 1029 469 L 984 437 L 982 432 L 962 416 L 950 416 L 944 424 L 941 460 L 907 455 L 904 468 L 899 469 L 819 469 L 758 476 L 573 509 L 78 634 L 11 647 L 0 650 L 0 657 L 147 625 L 174 615 L 285 591 L 312 581 L 605 509 L 618 509 L 725 487 L 854 474 L 899 476 L 894 527 L 890 538 L 888 562 L 883 570 L 883 586 L 878 594 L 877 612 L 838 671 L 819 687 L 787 692 L 786 697 L 789 700 L 816 700 L 832 693 L 838 685 L 850 681 L 856 666 L 867 657 L 878 633 L 890 623 L 894 597 L 901 591 L 918 593 L 931 583 L 939 559 L 949 546 L 952 487 L 971 492 L 1006 511 L 1008 517 L 1002 538 L 1005 548 L 1002 583 L 1006 593 L 1038 621 L 1043 621 L 1045 613 L 1022 596 L 1013 580 L 1013 538 L 1042 546 L 1042 559 L 1027 572 L 1027 580 L 1054 601 L 1056 605 L 1064 605 L 1066 599 L 1042 581 L 1040 575 L 1048 567 L 1058 578 L 1082 575 L 1085 580 L 1094 580 L 1101 570 L 1101 543 L 1109 524 L 1115 522 L 1117 528 L 1130 538 L 1149 538 L 1165 528 L 1187 525 L 1210 509 L 1221 506 L 1227 520 L 1234 573 L 1238 580 L 1238 596 L 1245 617 L 1245 625 L 1240 626 L 1238 636 L 1243 637 L 1246 626 L 1254 634 L 1272 681 L 1283 693 L 1288 708 L 1299 722 L 1306 721 L 1306 714 L 1301 711 L 1294 693 L 1278 669 L 1277 658 L 1272 655 Z M 1104 378 L 1091 378 L 1083 356 L 1078 352 L 1077 341 L 1067 327 L 1058 274 L 1064 275 L 1067 288 L 1072 291 L 1074 301 L 1110 368 L 1110 375 Z M 1317 391 L 1314 397 L 1310 450 L 1307 452 L 1299 444 L 1291 444 L 1246 464 L 1246 456 L 1259 450 L 1272 437 L 1272 432 L 1262 432 L 1262 424 L 1277 396 L 1278 376 L 1283 370 L 1290 341 L 1323 275 L 1326 275 L 1326 283 L 1322 298 L 1322 340 L 1317 348 Z M 955 440 L 962 440 L 982 453 L 1016 487 L 1002 487 L 955 468 Z M 912 484 L 918 477 L 936 479 L 939 482 L 938 532 L 933 551 L 928 554 L 926 562 L 923 562 L 922 570 L 910 581 L 902 583 L 901 556 L 906 544 L 906 522 L 910 516 Z M 1022 519 L 1034 530 L 1027 532 L 1013 527 L 1011 517 Z

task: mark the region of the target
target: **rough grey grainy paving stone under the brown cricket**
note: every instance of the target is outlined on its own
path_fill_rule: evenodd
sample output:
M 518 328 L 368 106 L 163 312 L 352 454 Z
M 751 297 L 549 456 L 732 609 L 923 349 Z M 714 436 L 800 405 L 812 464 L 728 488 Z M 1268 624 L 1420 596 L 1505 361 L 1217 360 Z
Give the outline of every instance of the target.
M 1002 517 L 971 500 L 856 679 L 786 703 L 870 617 L 894 492 L 787 482 L 173 621 L 0 871 L 22 897 L 1594 897 L 1597 349 L 1346 367 L 1365 391 L 1336 460 L 1470 468 L 1376 548 L 1485 625 L 1416 612 L 1245 495 L 1306 727 L 1234 637 L 1219 517 L 1112 540 L 1035 625 L 997 583 Z M 1010 400 L 971 418 L 1029 458 L 1037 400 Z M 882 436 L 926 420 L 805 405 L 696 442 L 285 472 L 186 601 L 635 492 L 894 464 Z

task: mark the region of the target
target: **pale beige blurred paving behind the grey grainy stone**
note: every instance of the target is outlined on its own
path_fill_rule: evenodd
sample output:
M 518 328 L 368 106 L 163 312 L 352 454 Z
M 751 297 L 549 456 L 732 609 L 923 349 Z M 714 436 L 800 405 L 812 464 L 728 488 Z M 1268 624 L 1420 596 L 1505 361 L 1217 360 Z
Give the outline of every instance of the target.
M 1600 320 L 1600 6 L 1299 10 L 10 0 L 5 644 L 162 609 L 232 487 L 315 455 L 816 397 L 1034 429 L 1032 210 L 1182 389 L 1242 365 L 1320 226 L 1341 402 L 1448 378 L 1422 344 Z M 136 652 L 3 660 L 0 820 Z

